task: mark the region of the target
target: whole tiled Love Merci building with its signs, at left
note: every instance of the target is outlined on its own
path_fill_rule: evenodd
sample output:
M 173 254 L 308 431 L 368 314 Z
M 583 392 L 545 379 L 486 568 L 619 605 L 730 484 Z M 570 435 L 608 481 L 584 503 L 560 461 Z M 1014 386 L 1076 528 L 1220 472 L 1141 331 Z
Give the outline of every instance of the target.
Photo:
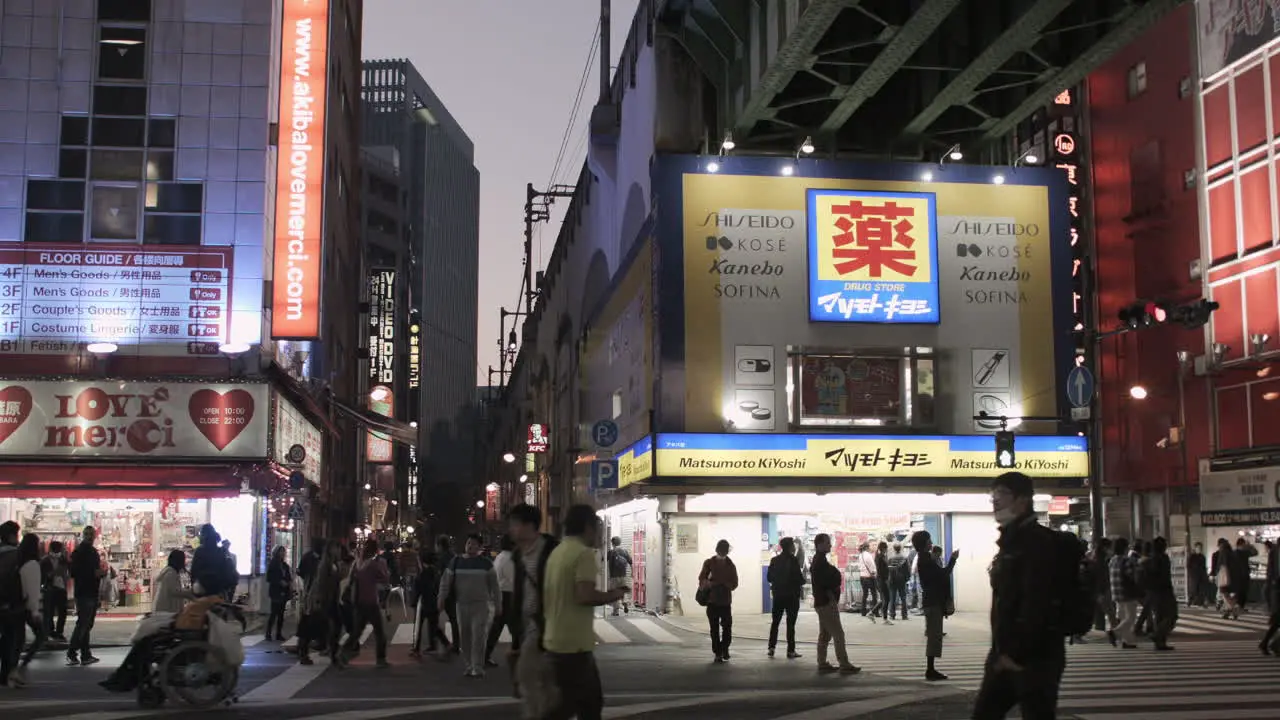
M 361 3 L 0 12 L 0 518 L 46 541 L 97 525 L 142 605 L 201 523 L 242 574 L 344 533 L 356 437 L 329 401 L 353 400 L 361 333 L 325 299 L 360 292 L 342 268 L 358 261 Z M 284 69 L 310 99 L 282 111 Z M 303 154 L 278 158 L 282 138 Z M 296 228 L 275 222 L 282 193 L 308 213 Z M 294 229 L 297 282 L 274 269 Z M 289 300 L 312 328 L 282 331 Z

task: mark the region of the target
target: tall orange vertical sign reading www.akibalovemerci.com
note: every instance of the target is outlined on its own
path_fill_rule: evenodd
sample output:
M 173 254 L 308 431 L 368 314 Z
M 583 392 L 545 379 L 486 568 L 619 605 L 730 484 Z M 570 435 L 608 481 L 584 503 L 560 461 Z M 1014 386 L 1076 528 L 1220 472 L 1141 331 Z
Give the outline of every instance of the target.
M 284 0 L 271 337 L 320 337 L 329 0 Z

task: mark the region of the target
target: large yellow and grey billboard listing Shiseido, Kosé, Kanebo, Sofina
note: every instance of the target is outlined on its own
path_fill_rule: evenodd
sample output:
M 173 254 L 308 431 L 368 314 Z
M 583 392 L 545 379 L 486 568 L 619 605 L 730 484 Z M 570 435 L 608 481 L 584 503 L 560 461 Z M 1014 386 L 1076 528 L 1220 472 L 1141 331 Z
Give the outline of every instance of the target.
M 996 184 L 989 168 L 931 165 L 924 182 L 845 177 L 919 178 L 924 165 L 813 161 L 828 177 L 800 177 L 751 173 L 746 159 L 742 174 L 667 163 L 684 199 L 671 227 L 685 323 L 663 336 L 684 350 L 684 382 L 663 393 L 682 392 L 686 430 L 970 434 L 1000 429 L 982 413 L 1059 414 L 1071 352 L 1064 173 L 1018 168 Z

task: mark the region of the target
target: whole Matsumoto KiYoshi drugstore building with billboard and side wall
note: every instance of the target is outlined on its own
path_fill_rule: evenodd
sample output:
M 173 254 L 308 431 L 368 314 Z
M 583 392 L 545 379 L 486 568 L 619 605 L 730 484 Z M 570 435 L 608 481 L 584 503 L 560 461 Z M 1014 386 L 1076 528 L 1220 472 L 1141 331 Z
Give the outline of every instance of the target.
M 549 519 L 602 505 L 649 609 L 695 611 L 718 539 L 759 612 L 781 537 L 831 533 L 847 568 L 915 529 L 961 548 L 957 607 L 987 607 L 993 432 L 1066 410 L 1066 174 L 708 147 L 708 81 L 655 22 L 641 3 L 593 113 L 492 482 Z M 1066 512 L 1085 438 L 1018 432 L 1038 506 Z

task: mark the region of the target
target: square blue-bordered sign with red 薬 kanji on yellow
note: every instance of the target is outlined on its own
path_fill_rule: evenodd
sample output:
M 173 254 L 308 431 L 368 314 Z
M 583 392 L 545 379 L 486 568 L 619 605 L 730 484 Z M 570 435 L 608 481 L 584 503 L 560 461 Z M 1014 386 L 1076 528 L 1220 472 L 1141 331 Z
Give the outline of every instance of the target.
M 937 323 L 932 192 L 810 190 L 809 319 Z

